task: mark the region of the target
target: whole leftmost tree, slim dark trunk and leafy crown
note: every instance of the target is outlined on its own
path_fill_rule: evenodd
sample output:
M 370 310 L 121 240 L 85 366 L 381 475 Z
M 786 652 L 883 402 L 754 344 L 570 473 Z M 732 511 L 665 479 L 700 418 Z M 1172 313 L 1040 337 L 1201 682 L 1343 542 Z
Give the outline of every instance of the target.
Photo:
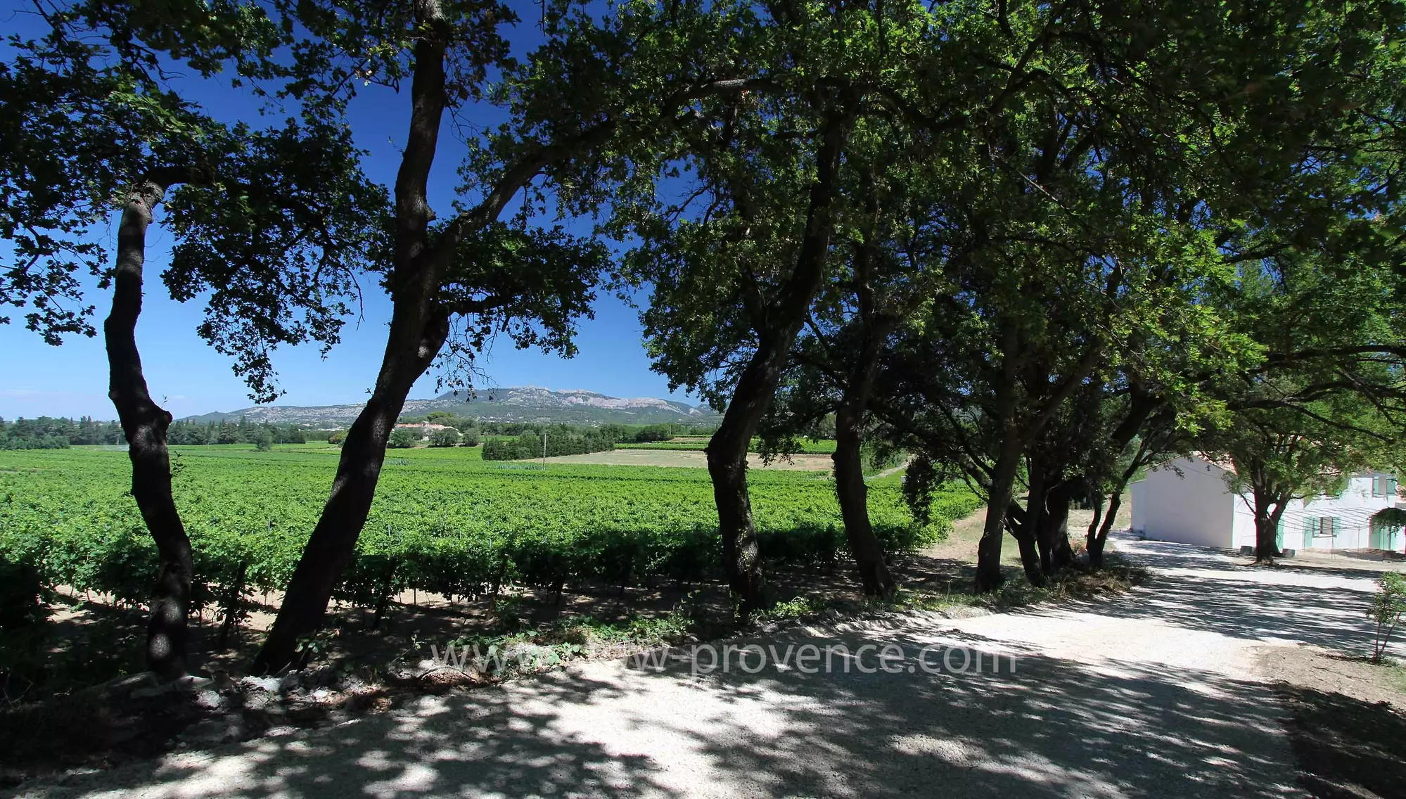
M 290 121 L 274 131 L 219 125 L 172 90 L 165 56 L 202 76 L 225 63 L 240 79 L 271 76 L 269 55 L 280 30 L 259 8 L 134 1 L 41 13 L 49 25 L 45 38 L 11 37 L 13 58 L 0 70 L 7 108 L 0 190 L 10 200 L 0 234 L 15 253 L 0 277 L 0 301 L 28 304 L 27 325 L 56 345 L 65 333 L 96 333 L 87 322 L 93 307 L 72 305 L 82 300 L 75 277 L 82 264 L 114 290 L 103 325 L 110 397 L 129 445 L 132 497 L 160 560 L 146 657 L 153 671 L 173 677 L 186 668 L 193 564 L 170 491 L 172 416 L 152 401 L 135 342 L 148 226 L 167 191 L 180 186 L 169 203 L 177 248 L 163 277 L 179 300 L 207 288 L 217 300 L 239 298 L 249 333 L 242 347 L 253 354 L 236 370 L 260 392 L 269 388 L 260 371 L 269 349 L 309 336 L 335 339 L 335 317 L 344 308 L 322 304 L 319 276 L 336 284 L 347 253 L 356 260 L 368 248 L 350 235 L 339 242 L 349 248 L 344 253 L 326 241 L 309 243 L 308 219 L 318 229 L 343 219 L 343 232 L 364 228 L 366 210 L 353 197 L 359 193 L 346 191 L 360 180 L 356 153 L 344 131 L 316 124 Z M 328 190 L 328 203 L 301 203 L 301 190 L 312 184 Z M 108 270 L 89 231 L 114 198 L 121 221 Z M 290 203 L 299 205 L 302 225 Z M 231 229 L 236 232 L 211 236 Z M 238 281 L 231 284 L 229 276 Z M 287 297 L 266 301 L 270 286 Z M 260 298 L 250 300 L 254 294 Z M 307 324 L 294 308 L 307 312 Z

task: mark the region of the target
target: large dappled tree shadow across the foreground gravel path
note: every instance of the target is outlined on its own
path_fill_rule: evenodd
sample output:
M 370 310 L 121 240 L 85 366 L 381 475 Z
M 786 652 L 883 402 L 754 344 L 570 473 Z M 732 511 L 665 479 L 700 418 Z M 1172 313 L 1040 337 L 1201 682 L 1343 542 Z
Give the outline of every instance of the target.
M 38 795 L 1204 799 L 1294 791 L 1267 685 L 1144 664 L 1091 667 L 943 630 L 935 619 L 730 643 L 725 660 L 704 661 L 699 650 L 661 670 L 592 663 Z M 766 665 L 755 650 L 742 660 L 737 647 L 748 643 L 776 647 Z M 828 671 L 824 657 L 810 661 L 814 674 L 796 668 L 807 643 L 828 647 Z M 873 648 L 856 660 L 865 646 Z M 880 661 L 886 646 L 896 648 Z M 997 654 L 1001 671 L 993 672 Z M 793 667 L 775 668 L 782 657 Z

